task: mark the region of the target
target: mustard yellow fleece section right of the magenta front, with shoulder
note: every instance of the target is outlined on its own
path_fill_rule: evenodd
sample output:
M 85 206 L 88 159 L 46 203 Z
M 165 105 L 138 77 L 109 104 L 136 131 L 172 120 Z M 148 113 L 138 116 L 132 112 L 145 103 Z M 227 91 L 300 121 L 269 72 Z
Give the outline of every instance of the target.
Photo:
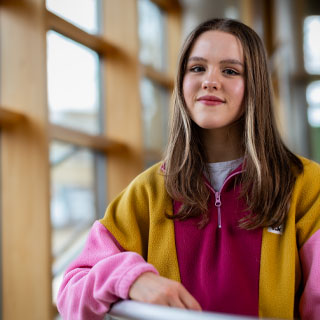
M 301 158 L 283 234 L 263 230 L 259 282 L 259 316 L 292 319 L 302 281 L 299 249 L 320 228 L 320 166 Z

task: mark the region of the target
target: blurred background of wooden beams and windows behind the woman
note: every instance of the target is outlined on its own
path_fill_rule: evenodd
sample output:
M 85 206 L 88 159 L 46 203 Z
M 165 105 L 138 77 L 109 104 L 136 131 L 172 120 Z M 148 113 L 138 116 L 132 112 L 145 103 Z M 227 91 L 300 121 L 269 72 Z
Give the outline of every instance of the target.
M 263 39 L 283 139 L 320 162 L 319 1 L 0 2 L 1 319 L 58 318 L 93 221 L 161 159 L 180 45 L 213 17 Z

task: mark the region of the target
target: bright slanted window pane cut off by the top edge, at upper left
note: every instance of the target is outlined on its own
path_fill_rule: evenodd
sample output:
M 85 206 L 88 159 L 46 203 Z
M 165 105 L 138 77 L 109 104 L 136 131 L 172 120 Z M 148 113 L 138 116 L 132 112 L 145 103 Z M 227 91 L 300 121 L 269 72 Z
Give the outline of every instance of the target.
M 97 0 L 46 0 L 47 9 L 89 32 L 98 33 Z

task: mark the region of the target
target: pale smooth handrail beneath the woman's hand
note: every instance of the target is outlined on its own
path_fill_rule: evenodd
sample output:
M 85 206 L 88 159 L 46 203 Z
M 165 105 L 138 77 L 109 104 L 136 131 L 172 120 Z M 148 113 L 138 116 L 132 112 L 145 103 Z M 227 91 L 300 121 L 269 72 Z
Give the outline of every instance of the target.
M 198 312 L 159 306 L 132 300 L 120 301 L 111 308 L 107 319 L 121 320 L 253 320 L 255 317 Z

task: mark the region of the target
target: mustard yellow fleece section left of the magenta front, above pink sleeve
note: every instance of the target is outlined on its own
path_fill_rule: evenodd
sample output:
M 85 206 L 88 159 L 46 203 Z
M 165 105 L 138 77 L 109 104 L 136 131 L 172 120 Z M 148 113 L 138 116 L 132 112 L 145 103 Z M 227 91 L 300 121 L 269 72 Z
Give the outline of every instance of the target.
M 100 222 L 123 249 L 134 251 L 155 266 L 160 275 L 180 281 L 175 246 L 172 199 L 156 164 L 130 183 L 109 205 Z

